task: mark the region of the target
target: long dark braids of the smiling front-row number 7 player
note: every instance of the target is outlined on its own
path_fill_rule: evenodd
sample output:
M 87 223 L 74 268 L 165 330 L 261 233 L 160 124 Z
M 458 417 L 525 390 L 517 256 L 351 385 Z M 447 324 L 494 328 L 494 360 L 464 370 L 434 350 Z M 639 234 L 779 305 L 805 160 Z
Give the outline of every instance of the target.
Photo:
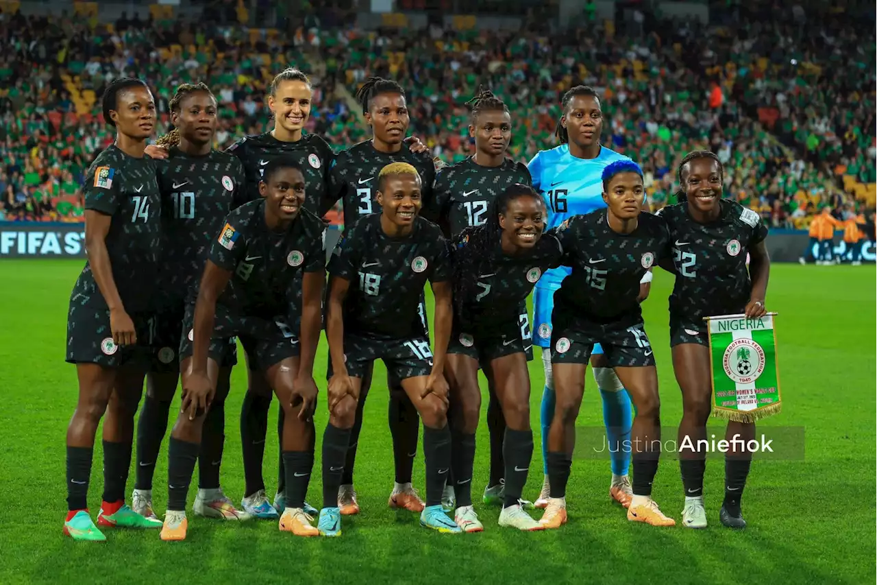
M 530 185 L 512 184 L 508 186 L 488 206 L 487 221 L 481 226 L 467 227 L 453 238 L 453 303 L 457 314 L 463 314 L 464 307 L 478 294 L 478 275 L 488 270 L 496 259 L 496 250 L 503 234 L 499 216 L 506 213 L 510 202 L 532 197 L 541 201 L 539 194 Z

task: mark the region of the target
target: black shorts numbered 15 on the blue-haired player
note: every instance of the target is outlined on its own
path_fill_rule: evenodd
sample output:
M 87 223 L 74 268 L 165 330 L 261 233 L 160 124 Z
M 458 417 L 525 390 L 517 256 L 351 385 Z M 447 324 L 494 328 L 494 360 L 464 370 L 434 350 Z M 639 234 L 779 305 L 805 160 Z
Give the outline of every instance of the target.
M 642 320 L 631 326 L 627 325 L 629 320 L 595 323 L 580 318 L 553 319 L 553 322 L 552 364 L 587 364 L 594 344 L 600 343 L 610 367 L 655 365 L 652 344 L 645 335 Z M 569 324 L 563 325 L 565 322 Z

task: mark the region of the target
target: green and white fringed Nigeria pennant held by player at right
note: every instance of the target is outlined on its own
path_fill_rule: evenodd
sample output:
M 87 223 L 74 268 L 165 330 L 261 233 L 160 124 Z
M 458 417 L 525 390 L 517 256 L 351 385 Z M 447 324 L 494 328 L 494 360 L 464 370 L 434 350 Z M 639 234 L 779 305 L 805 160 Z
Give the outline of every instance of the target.
M 775 313 L 759 319 L 742 314 L 707 317 L 713 416 L 754 423 L 780 412 Z

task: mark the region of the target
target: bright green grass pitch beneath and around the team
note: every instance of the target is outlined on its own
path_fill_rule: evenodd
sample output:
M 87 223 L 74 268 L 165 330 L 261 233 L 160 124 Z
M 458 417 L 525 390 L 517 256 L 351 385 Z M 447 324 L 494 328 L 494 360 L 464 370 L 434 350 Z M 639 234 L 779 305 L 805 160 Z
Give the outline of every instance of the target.
M 189 540 L 165 544 L 158 531 L 109 531 L 105 545 L 61 536 L 66 511 L 64 435 L 76 400 L 73 365 L 65 364 L 68 295 L 82 264 L 73 261 L 0 263 L 0 582 L 833 582 L 873 580 L 873 479 L 877 433 L 873 413 L 875 311 L 873 267 L 774 266 L 767 306 L 779 311 L 778 337 L 785 405 L 765 426 L 806 429 L 806 459 L 756 462 L 745 492 L 750 526 L 733 532 L 718 522 L 724 465 L 710 459 L 706 501 L 709 528 L 661 529 L 627 522 L 607 495 L 609 463 L 578 460 L 567 493 L 570 520 L 560 531 L 517 533 L 496 525 L 498 509 L 479 506 L 486 531 L 459 537 L 420 528 L 417 516 L 387 508 L 393 459 L 386 392 L 377 384 L 360 437 L 356 484 L 362 513 L 346 520 L 339 539 L 282 534 L 271 522 L 223 524 L 193 517 Z M 674 426 L 681 400 L 667 348 L 667 294 L 672 281 L 656 275 L 645 303 L 646 329 L 658 358 L 663 422 Z M 324 372 L 324 348 L 317 380 Z M 382 365 L 375 379 L 383 380 Z M 543 374 L 531 364 L 531 412 L 536 452 L 525 495 L 541 484 L 538 404 Z M 320 383 L 320 386 L 324 386 Z M 234 372 L 226 407 L 223 486 L 239 501 L 243 473 L 239 405 L 245 372 Z M 602 424 L 588 374 L 580 425 Z M 177 402 L 178 403 L 178 402 Z M 276 403 L 275 403 L 276 404 Z M 322 435 L 325 402 L 317 415 Z M 172 411 L 173 412 L 173 411 Z M 276 416 L 272 408 L 271 420 Z M 277 444 L 269 424 L 265 478 L 273 495 Z M 721 434 L 721 427 L 717 425 Z M 488 473 L 486 424 L 479 429 L 473 492 Z M 89 492 L 98 509 L 102 490 L 100 441 Z M 319 452 L 317 446 L 317 453 Z M 166 452 L 155 475 L 163 509 Z M 418 455 L 415 483 L 424 487 Z M 319 503 L 319 461 L 310 502 Z M 133 483 L 133 473 L 128 489 Z M 194 486 L 189 502 L 194 499 Z M 667 460 L 655 499 L 680 519 L 678 464 Z M 867 545 L 870 542 L 872 545 Z M 866 553 L 872 550 L 872 553 Z M 869 568 L 871 567 L 871 568 Z

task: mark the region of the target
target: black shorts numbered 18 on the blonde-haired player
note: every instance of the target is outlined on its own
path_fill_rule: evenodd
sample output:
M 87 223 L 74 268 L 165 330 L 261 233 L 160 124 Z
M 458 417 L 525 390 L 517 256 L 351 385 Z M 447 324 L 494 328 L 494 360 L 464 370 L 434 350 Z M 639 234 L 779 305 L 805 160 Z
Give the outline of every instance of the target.
M 403 379 L 428 376 L 432 372 L 432 350 L 426 336 L 410 339 L 373 339 L 346 334 L 344 336 L 344 361 L 347 375 L 362 378 L 374 360 L 383 360 L 387 366 L 387 383 L 390 388 L 401 384 Z M 326 379 L 332 378 L 332 360 Z

